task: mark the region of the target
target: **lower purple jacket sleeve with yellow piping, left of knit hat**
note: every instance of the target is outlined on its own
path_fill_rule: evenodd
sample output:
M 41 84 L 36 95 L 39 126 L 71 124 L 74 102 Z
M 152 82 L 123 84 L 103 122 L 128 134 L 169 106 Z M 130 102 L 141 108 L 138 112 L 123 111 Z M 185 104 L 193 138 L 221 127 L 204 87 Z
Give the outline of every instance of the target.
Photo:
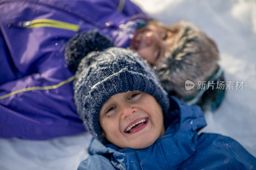
M 53 67 L 0 86 L 1 138 L 47 139 L 85 130 L 73 103 L 72 78 L 56 76 L 59 71 Z

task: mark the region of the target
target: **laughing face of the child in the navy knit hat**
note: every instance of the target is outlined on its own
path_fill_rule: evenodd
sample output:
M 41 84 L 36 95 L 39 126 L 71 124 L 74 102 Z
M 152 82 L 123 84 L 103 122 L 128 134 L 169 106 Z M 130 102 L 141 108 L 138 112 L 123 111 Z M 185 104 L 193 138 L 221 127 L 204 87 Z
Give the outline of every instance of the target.
M 127 91 L 103 104 L 99 116 L 103 135 L 121 148 L 142 149 L 164 135 L 160 104 L 148 93 Z

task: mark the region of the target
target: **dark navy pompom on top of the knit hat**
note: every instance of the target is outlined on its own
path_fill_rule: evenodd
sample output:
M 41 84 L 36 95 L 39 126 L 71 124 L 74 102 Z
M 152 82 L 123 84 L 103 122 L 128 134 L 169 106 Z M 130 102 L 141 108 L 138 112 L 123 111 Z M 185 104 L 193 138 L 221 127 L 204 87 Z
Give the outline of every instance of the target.
M 71 71 L 76 71 L 81 59 L 91 51 L 102 51 L 113 46 L 107 37 L 96 30 L 76 34 L 65 46 L 65 59 Z

